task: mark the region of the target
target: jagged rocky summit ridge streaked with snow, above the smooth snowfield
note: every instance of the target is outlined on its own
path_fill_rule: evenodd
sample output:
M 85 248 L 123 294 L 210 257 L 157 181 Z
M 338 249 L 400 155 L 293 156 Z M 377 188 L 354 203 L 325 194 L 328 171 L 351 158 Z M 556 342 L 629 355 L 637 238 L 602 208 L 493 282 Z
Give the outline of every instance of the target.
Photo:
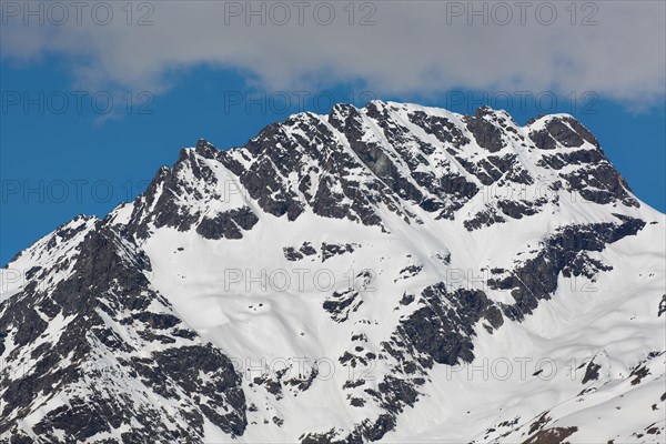
M 515 195 L 544 181 L 553 192 L 549 202 L 536 190 L 518 206 L 484 198 L 487 188 Z M 597 204 L 639 205 L 596 139 L 569 115 L 518 127 L 506 111 L 488 107 L 461 115 L 382 101 L 364 108 L 336 104 L 329 115 L 294 114 L 265 127 L 246 145 L 225 151 L 201 139 L 195 149 L 181 151 L 172 172 L 153 182 L 145 200 L 161 203 L 137 205 L 137 220 L 154 219 L 157 228 L 180 230 L 211 225 L 211 216 L 224 213 L 216 202 L 224 194 L 220 186 L 243 190 L 274 216 L 295 220 L 312 211 L 382 230 L 386 214 L 416 224 L 430 216 L 458 220 L 477 230 L 554 211 L 549 205 L 559 211 L 562 191 Z M 195 204 L 188 203 L 192 198 Z M 144 211 L 160 215 L 139 214 Z M 203 214 L 209 214 L 205 220 Z M 225 228 L 215 232 L 242 236 L 243 230 L 231 229 L 233 218 L 224 221 Z M 145 228 L 141 232 L 148 233 Z

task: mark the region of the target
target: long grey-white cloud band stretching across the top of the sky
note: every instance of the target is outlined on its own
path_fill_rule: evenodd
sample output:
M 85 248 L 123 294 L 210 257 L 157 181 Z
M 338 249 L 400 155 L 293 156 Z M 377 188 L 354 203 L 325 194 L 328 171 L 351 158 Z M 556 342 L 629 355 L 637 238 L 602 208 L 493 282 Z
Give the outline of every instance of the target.
M 120 9 L 125 2 L 108 2 L 114 12 L 109 24 L 94 23 L 92 6 L 88 6 L 78 26 L 75 11 L 65 1 L 62 4 L 70 17 L 64 24 L 49 23 L 60 16 L 53 16 L 58 12 L 53 10 L 49 17 L 44 2 L 44 26 L 36 17 L 29 17 L 30 24 L 24 26 L 24 11 L 7 9 L 7 4 L 22 8 L 24 3 L 3 2 L 0 44 L 7 60 L 59 56 L 71 65 L 77 84 L 90 89 L 161 92 L 169 88 L 173 72 L 210 64 L 246 70 L 263 88 L 274 90 L 361 81 L 373 91 L 391 94 L 468 88 L 564 94 L 595 91 L 632 107 L 664 101 L 666 2 L 578 2 L 574 26 L 571 2 L 549 3 L 557 11 L 551 26 L 539 23 L 549 18 L 549 9 L 539 7 L 543 2 L 526 7 L 522 24 L 518 3 L 474 2 L 476 9 L 487 4 L 488 24 L 475 16 L 470 26 L 466 11 L 452 16 L 461 7 L 467 9 L 466 1 L 375 1 L 374 26 L 350 26 L 349 9 L 343 10 L 349 3 L 330 2 L 336 17 L 332 24 L 322 26 L 313 12 L 322 2 L 310 2 L 301 26 L 297 3 L 286 1 L 281 4 L 286 4 L 292 17 L 276 26 L 272 21 L 281 20 L 284 9 L 253 2 L 254 9 L 265 4 L 266 26 L 259 17 L 251 17 L 246 26 L 244 1 L 162 1 L 150 3 L 152 26 L 135 24 L 150 10 L 133 3 L 133 23 L 128 26 L 127 11 Z M 504 6 L 513 19 L 500 26 Z M 229 12 L 238 7 L 244 11 L 231 17 Z M 537 8 L 542 8 L 538 16 Z M 355 22 L 372 11 L 362 2 L 354 3 L 354 9 Z M 104 18 L 100 11 L 98 18 Z M 319 19 L 325 19 L 326 10 L 319 11 Z M 589 14 L 596 24 L 582 26 Z

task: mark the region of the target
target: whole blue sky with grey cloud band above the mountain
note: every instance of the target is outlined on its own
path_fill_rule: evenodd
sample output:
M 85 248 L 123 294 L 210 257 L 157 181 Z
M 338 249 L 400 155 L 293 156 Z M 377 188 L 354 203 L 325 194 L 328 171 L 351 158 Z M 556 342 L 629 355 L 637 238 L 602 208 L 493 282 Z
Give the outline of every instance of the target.
M 330 26 L 248 24 L 225 2 L 145 3 L 129 24 L 124 10 L 104 26 L 2 10 L 0 264 L 77 214 L 133 199 L 199 138 L 240 145 L 293 112 L 369 99 L 464 113 L 490 104 L 519 123 L 572 113 L 636 195 L 666 211 L 662 1 L 598 3 L 593 26 L 589 11 L 564 9 L 548 26 L 468 22 L 446 2 L 357 2 L 353 22 L 334 3 Z M 150 26 L 137 26 L 147 13 Z

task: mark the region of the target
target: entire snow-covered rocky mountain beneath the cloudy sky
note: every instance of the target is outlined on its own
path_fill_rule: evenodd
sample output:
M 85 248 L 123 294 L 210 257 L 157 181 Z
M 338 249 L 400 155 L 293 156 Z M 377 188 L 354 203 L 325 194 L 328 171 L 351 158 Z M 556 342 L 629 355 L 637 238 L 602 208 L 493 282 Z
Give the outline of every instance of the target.
M 0 441 L 664 442 L 665 222 L 567 114 L 200 140 L 4 268 Z

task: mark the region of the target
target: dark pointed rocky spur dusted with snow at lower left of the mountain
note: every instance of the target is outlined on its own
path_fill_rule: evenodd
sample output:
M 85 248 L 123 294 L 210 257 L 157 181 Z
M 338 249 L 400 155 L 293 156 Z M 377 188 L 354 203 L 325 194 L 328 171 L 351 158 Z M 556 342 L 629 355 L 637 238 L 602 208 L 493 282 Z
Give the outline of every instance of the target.
M 20 344 L 7 357 L 14 370 L 0 376 L 7 403 L 0 434 L 12 442 L 24 438 L 17 422 L 39 408 L 33 402 L 46 393 L 69 398 L 33 427 L 50 442 L 60 441 L 57 436 L 81 442 L 123 426 L 131 428 L 123 442 L 196 442 L 204 418 L 232 437 L 242 435 L 246 420 L 240 375 L 151 290 L 143 274 L 150 270 L 148 259 L 102 222 L 78 250 L 71 275 L 56 287 L 26 290 L 0 304 L 2 337 Z M 149 305 L 163 312 L 148 311 Z M 69 321 L 59 336 L 36 347 L 38 336 L 51 337 L 44 315 Z M 37 361 L 31 367 L 26 366 L 29 352 Z M 173 406 L 139 401 L 149 393 Z

